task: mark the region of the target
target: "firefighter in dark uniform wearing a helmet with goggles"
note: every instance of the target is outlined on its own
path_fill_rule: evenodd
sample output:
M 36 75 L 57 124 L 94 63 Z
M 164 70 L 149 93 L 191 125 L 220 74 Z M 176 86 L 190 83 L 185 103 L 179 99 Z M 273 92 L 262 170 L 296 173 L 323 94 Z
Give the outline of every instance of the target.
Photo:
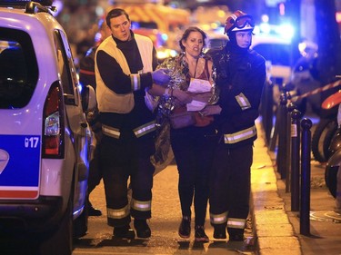
M 253 29 L 252 17 L 236 11 L 226 19 L 226 46 L 210 53 L 220 98 L 217 105 L 207 106 L 201 112 L 216 114 L 219 137 L 209 197 L 215 239 L 226 239 L 227 227 L 229 240 L 244 240 L 255 120 L 266 80 L 265 59 L 249 49 Z

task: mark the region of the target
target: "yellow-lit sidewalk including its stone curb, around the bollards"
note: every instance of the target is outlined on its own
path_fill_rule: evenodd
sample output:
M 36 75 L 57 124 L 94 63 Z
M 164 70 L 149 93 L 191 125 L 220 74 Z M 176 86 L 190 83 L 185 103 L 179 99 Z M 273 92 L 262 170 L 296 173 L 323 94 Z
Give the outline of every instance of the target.
M 341 215 L 324 181 L 325 166 L 311 162 L 310 235 L 300 234 L 299 212 L 291 211 L 291 193 L 276 172 L 276 157 L 268 152 L 265 133 L 257 123 L 251 174 L 251 212 L 257 253 L 341 254 Z

